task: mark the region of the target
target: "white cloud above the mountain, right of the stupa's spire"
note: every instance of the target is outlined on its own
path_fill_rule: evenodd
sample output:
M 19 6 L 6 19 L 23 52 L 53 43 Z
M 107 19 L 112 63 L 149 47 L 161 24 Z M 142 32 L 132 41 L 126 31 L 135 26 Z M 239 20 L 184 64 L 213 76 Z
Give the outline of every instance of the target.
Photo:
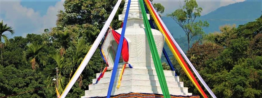
M 201 15 L 205 15 L 215 11 L 219 7 L 243 1 L 245 0 L 197 0 L 197 4 L 199 7 L 203 8 Z M 179 8 L 180 3 L 184 2 L 184 0 L 153 0 L 153 2 L 161 3 L 165 7 L 165 13 L 163 13 L 163 15 L 166 15 Z

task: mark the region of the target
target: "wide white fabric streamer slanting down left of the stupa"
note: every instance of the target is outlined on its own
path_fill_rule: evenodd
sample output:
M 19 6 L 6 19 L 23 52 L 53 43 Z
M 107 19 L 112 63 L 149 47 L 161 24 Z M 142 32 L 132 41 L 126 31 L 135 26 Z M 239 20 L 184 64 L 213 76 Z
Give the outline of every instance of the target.
M 111 12 L 110 16 L 108 17 L 104 27 L 102 28 L 102 30 L 100 31 L 98 37 L 95 39 L 95 42 L 93 43 L 93 45 L 91 46 L 91 48 L 89 49 L 88 53 L 86 54 L 85 58 L 83 59 L 82 63 L 80 64 L 80 66 L 78 67 L 78 69 L 76 70 L 75 74 L 73 75 L 73 77 L 71 78 L 71 80 L 69 81 L 69 83 L 67 84 L 67 86 L 65 87 L 65 90 L 63 91 L 63 93 L 61 94 L 60 98 L 65 98 L 65 96 L 67 95 L 67 93 L 69 92 L 69 90 L 72 88 L 72 86 L 75 84 L 75 81 L 78 79 L 78 77 L 80 76 L 80 74 L 82 73 L 82 71 L 84 70 L 85 66 L 87 65 L 88 61 L 91 59 L 91 57 L 93 56 L 95 50 L 97 49 L 98 45 L 100 44 L 101 40 L 103 39 L 106 30 L 108 29 L 108 27 L 110 26 L 110 23 L 112 22 L 116 11 L 120 5 L 122 0 L 118 0 L 116 3 L 116 6 L 114 7 L 113 11 Z

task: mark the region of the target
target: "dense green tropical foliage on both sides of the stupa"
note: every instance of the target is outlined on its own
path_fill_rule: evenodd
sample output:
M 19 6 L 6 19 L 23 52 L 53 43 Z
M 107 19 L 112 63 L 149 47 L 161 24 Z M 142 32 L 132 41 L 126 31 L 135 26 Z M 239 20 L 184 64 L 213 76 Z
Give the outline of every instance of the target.
M 13 37 L 4 41 L 9 44 L 1 48 L 3 64 L 0 66 L 0 97 L 53 98 L 56 96 L 56 84 L 52 79 L 56 78 L 56 74 L 58 91 L 62 93 L 116 1 L 65 0 L 65 10 L 57 15 L 56 27 L 45 29 L 41 35 L 27 34 L 26 37 Z M 118 14 L 121 14 L 123 4 L 124 1 Z M 161 13 L 162 6 L 154 6 L 159 6 Z M 220 32 L 204 36 L 201 42 L 194 43 L 188 51 L 193 65 L 217 97 L 261 96 L 261 18 L 237 28 L 230 25 L 220 27 Z M 120 24 L 121 21 L 115 16 L 111 25 L 117 29 Z M 5 31 L 13 34 L 12 27 L 4 26 L 9 28 Z M 1 38 L 6 39 L 3 36 Z M 173 62 L 184 86 L 189 87 L 189 92 L 199 94 L 180 67 L 176 66 L 174 59 Z M 84 90 L 88 90 L 88 85 L 92 84 L 95 73 L 99 73 L 104 66 L 97 49 L 67 97 L 83 96 Z M 166 63 L 163 63 L 163 67 L 169 69 Z

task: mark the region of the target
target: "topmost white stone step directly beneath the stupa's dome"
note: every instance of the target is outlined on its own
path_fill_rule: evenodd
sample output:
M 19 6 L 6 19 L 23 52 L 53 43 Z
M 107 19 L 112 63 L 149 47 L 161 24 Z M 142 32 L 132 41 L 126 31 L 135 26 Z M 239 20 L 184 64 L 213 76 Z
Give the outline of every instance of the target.
M 116 72 L 116 76 L 119 76 L 122 71 L 122 68 L 118 68 Z M 152 69 L 138 69 L 138 68 L 126 68 L 124 71 L 125 75 L 128 74 L 142 74 L 142 75 L 157 75 L 156 70 Z M 96 73 L 96 78 L 98 78 L 100 73 Z M 105 72 L 104 78 L 111 77 L 112 71 Z M 166 71 L 164 70 L 165 76 L 175 76 L 175 71 Z

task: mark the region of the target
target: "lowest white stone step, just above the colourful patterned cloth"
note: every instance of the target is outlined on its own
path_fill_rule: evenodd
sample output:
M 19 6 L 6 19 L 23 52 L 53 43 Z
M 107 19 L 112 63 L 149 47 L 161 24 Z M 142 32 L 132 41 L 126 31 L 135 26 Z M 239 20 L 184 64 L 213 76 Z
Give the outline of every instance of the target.
M 172 95 L 192 95 L 188 93 L 187 87 L 168 87 L 169 93 Z M 104 97 L 107 95 L 108 87 L 95 90 L 86 90 L 86 97 Z M 121 86 L 119 89 L 113 86 L 111 95 L 127 94 L 129 92 L 136 93 L 151 93 L 151 94 L 163 94 L 160 86 L 143 86 L 143 85 L 128 85 Z

